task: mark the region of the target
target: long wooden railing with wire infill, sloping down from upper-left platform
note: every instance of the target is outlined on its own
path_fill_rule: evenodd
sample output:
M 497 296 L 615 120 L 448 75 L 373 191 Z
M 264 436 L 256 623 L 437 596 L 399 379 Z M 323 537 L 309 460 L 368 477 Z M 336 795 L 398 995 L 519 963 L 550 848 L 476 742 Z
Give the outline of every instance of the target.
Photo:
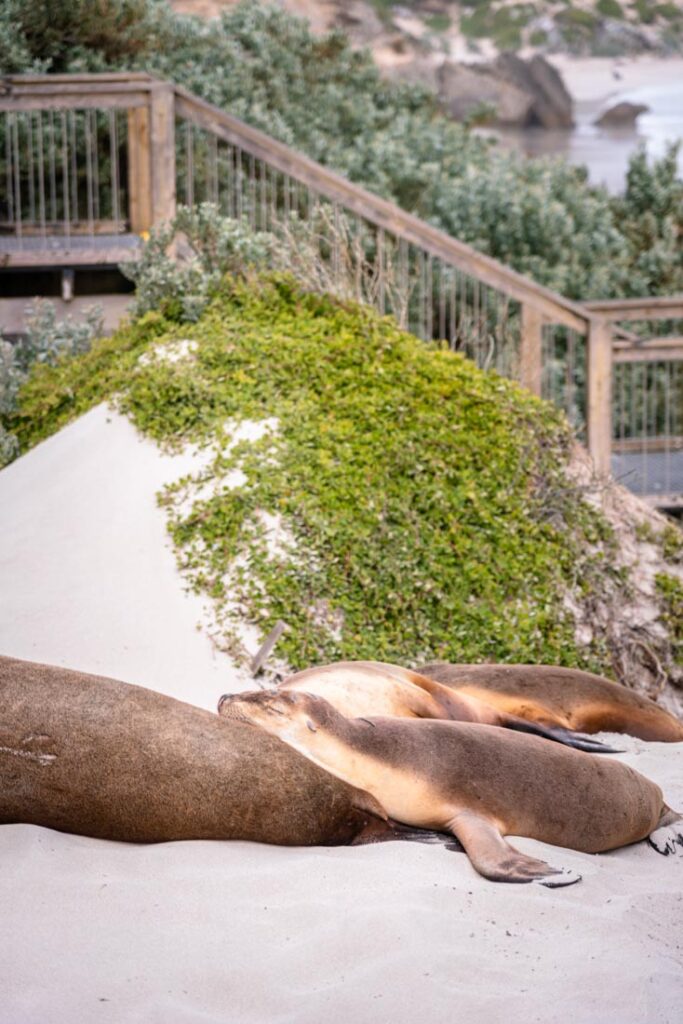
M 14 76 L 3 111 L 6 265 L 120 262 L 176 202 L 214 202 L 259 230 L 305 229 L 333 283 L 558 401 L 609 470 L 622 307 L 617 317 L 565 299 L 148 75 Z

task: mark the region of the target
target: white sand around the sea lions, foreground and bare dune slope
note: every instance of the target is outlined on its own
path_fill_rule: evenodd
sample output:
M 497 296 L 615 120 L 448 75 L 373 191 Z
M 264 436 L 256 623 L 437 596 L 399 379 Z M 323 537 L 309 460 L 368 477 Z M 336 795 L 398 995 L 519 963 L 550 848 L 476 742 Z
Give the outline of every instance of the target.
M 0 473 L 0 651 L 212 707 L 154 493 L 183 471 L 94 410 Z M 197 465 L 197 462 L 195 462 Z M 620 737 L 683 807 L 683 744 Z M 520 840 L 579 869 L 502 886 L 442 847 L 134 847 L 0 827 L 0 1024 L 678 1024 L 683 859 Z

